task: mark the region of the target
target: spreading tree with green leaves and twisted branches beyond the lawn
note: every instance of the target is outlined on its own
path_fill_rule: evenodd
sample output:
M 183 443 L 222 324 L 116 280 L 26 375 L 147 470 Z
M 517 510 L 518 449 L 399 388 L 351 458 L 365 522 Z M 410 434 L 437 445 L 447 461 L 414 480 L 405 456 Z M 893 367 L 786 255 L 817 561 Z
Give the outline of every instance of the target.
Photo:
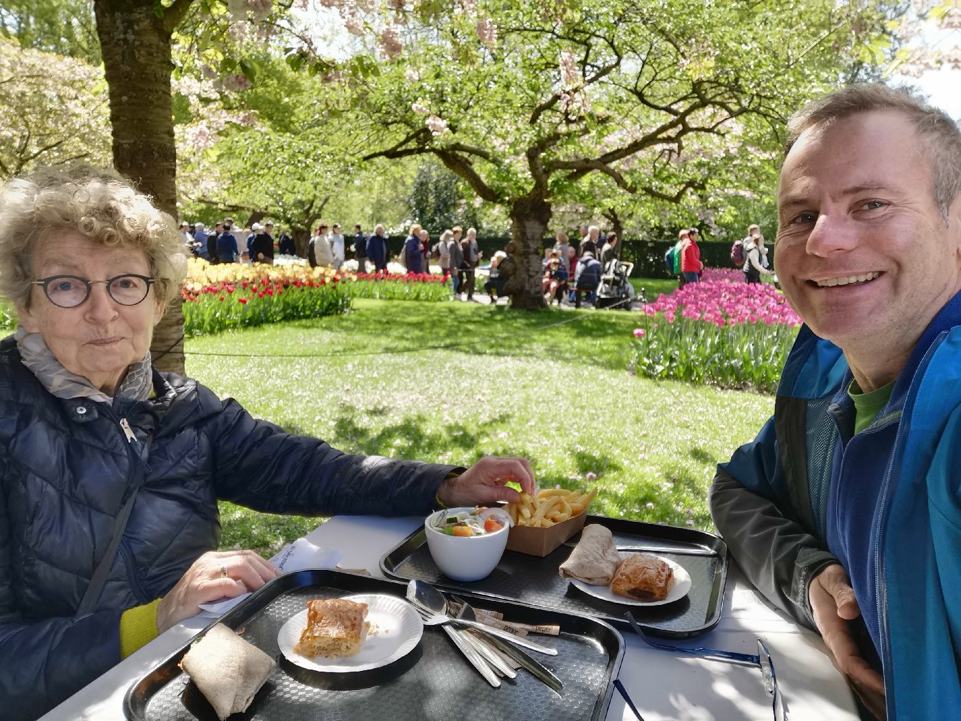
M 770 150 L 785 116 L 883 30 L 874 5 L 830 0 L 358 6 L 340 6 L 359 39 L 336 63 L 350 118 L 338 132 L 367 160 L 430 154 L 503 207 L 520 308 L 543 306 L 541 239 L 579 184 L 601 174 L 619 193 L 683 202 L 719 163 Z

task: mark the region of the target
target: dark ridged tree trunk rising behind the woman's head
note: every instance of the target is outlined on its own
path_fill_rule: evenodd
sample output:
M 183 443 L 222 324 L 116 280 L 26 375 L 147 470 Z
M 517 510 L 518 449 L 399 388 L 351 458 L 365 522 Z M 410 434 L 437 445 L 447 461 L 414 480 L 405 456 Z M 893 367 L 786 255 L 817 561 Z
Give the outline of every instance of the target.
M 113 164 L 161 211 L 177 217 L 177 152 L 170 96 L 170 30 L 154 0 L 96 0 L 110 91 Z M 184 373 L 184 315 L 177 300 L 154 331 L 160 370 Z

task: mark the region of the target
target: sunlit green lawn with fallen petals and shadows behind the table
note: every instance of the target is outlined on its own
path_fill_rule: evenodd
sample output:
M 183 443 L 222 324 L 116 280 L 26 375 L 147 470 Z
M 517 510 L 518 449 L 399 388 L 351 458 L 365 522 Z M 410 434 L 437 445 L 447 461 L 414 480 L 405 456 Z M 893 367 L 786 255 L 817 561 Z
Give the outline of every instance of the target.
M 541 486 L 599 485 L 594 512 L 710 529 L 714 464 L 752 437 L 774 400 L 631 376 L 634 321 L 620 311 L 357 300 L 347 315 L 191 338 L 186 370 L 255 415 L 347 452 L 465 465 L 526 456 Z M 317 523 L 226 503 L 222 520 L 225 548 L 265 555 Z

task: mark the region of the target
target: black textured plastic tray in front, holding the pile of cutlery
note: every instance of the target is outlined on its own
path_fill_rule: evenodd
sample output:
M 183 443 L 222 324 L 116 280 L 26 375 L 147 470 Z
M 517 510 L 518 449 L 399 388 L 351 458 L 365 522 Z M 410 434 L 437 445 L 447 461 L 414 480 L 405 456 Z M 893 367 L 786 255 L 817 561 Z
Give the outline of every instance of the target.
M 604 719 L 611 682 L 624 658 L 624 639 L 609 625 L 588 616 L 482 600 L 483 608 L 500 610 L 508 620 L 560 626 L 557 637 L 533 636 L 554 646 L 557 656 L 530 652 L 564 683 L 559 694 L 523 669 L 516 679 L 502 679 L 500 688 L 492 687 L 440 626 L 425 626 L 420 643 L 406 657 L 371 671 L 319 673 L 290 663 L 280 653 L 278 632 L 310 599 L 353 593 L 403 598 L 405 591 L 406 584 L 395 581 L 337 571 L 299 571 L 264 585 L 231 609 L 219 622 L 234 630 L 242 628 L 246 640 L 278 659 L 250 709 L 234 717 L 271 721 Z M 207 700 L 178 666 L 189 646 L 186 643 L 130 687 L 124 698 L 128 719 L 216 721 Z

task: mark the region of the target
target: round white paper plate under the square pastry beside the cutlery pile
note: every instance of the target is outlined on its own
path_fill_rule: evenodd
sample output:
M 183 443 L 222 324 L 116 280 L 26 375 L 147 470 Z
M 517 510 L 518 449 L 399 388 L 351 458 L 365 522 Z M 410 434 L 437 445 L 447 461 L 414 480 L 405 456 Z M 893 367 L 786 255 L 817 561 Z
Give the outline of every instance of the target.
M 312 671 L 349 673 L 379 668 L 409 654 L 424 634 L 424 624 L 417 611 L 407 601 L 396 596 L 360 593 L 344 596 L 348 601 L 367 604 L 370 629 L 356 656 L 332 659 L 326 656 L 309 658 L 294 651 L 300 634 L 307 628 L 308 609 L 295 613 L 281 627 L 277 643 L 281 653 L 291 663 Z

